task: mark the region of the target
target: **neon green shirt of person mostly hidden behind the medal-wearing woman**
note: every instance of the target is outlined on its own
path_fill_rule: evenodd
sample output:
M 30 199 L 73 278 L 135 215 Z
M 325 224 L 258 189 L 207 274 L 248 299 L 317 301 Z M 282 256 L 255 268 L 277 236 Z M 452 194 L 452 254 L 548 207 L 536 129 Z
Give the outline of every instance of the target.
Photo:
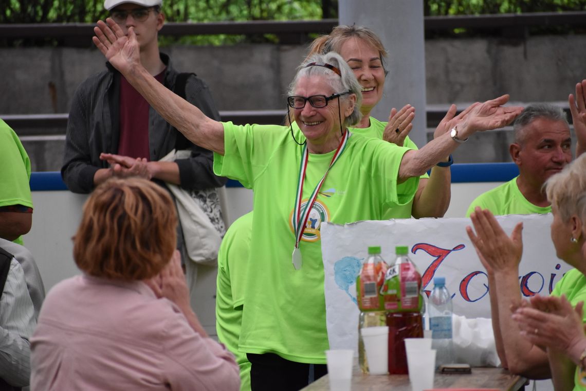
M 243 278 L 250 253 L 250 232 L 253 213 L 232 223 L 218 251 L 216 281 L 216 331 L 218 339 L 236 356 L 240 366 L 240 391 L 250 391 L 250 361 L 238 351 L 242 321 Z

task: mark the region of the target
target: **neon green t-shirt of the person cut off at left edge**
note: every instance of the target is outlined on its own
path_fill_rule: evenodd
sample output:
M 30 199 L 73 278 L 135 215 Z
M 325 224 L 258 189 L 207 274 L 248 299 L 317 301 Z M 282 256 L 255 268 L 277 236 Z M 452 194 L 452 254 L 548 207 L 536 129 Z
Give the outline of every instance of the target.
M 0 120 L 0 206 L 33 207 L 30 159 L 16 133 Z M 22 236 L 15 243 L 22 244 Z

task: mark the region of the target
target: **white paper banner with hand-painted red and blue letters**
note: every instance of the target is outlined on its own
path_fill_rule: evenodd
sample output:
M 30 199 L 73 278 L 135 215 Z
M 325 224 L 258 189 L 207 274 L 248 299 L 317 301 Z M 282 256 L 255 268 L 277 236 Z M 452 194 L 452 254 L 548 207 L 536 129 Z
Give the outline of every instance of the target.
M 550 237 L 551 214 L 498 216 L 497 219 L 508 234 L 517 222 L 523 221 L 519 276 L 523 295 L 548 295 L 570 270 L 570 266 L 556 257 Z M 381 255 L 390 264 L 394 263 L 395 246 L 408 246 L 409 256 L 423 277 L 424 290 L 432 290 L 434 276 L 443 276 L 453 297 L 455 314 L 490 318 L 488 277 L 466 234 L 468 225 L 471 225 L 468 218 L 322 223 L 330 348 L 357 349 L 356 277 L 369 246 L 381 246 Z

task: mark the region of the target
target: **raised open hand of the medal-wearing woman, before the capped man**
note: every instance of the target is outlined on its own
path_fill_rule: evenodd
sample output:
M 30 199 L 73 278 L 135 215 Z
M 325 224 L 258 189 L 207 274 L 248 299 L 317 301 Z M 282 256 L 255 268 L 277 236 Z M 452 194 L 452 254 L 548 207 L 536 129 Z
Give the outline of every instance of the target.
M 128 36 L 124 35 L 120 26 L 113 19 L 107 18 L 106 23 L 98 21 L 94 27 L 94 45 L 106 59 L 121 73 L 126 74 L 140 64 L 139 46 L 134 27 L 128 28 Z

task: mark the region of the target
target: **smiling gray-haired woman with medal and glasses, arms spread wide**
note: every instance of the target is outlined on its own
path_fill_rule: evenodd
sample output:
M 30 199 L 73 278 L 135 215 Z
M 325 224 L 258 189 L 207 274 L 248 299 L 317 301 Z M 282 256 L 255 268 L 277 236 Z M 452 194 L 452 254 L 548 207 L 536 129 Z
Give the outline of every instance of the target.
M 362 87 L 336 53 L 307 59 L 291 83 L 287 103 L 301 132 L 220 123 L 145 72 L 132 29 L 125 36 L 107 19 L 94 32 L 98 49 L 159 114 L 189 140 L 216 152 L 216 174 L 254 190 L 239 345 L 252 364 L 251 388 L 298 390 L 308 383 L 311 363 L 316 378 L 325 374 L 321 222 L 380 220 L 387 209 L 409 202 L 418 177 L 459 142 L 444 134 L 414 151 L 352 137 L 348 127 L 360 120 Z M 455 137 L 465 140 L 512 121 L 521 108 L 503 107 L 507 100 L 475 106 L 451 124 Z

